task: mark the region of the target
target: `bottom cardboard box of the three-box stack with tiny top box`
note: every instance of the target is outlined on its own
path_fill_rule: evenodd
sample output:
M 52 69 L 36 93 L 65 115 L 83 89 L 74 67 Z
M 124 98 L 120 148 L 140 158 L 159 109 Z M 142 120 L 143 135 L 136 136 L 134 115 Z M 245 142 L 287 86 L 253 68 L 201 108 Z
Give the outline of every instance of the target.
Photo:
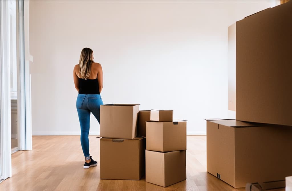
M 167 153 L 146 150 L 146 182 L 166 187 L 186 178 L 185 150 Z

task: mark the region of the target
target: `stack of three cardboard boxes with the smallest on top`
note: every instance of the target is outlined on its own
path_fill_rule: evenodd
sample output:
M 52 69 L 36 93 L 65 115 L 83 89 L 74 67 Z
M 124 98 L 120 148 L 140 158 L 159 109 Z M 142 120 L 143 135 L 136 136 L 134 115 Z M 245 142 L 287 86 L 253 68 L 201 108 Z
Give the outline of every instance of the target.
M 186 179 L 186 121 L 173 110 L 151 110 L 146 122 L 146 182 L 163 187 Z

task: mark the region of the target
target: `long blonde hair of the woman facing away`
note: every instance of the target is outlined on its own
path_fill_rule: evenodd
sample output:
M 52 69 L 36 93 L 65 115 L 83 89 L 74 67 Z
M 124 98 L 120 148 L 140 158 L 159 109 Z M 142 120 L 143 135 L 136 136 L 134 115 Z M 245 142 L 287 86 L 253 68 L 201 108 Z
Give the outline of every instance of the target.
M 84 48 L 81 50 L 79 59 L 79 75 L 82 79 L 87 79 L 90 76 L 91 64 L 93 61 L 93 51 L 90 48 Z

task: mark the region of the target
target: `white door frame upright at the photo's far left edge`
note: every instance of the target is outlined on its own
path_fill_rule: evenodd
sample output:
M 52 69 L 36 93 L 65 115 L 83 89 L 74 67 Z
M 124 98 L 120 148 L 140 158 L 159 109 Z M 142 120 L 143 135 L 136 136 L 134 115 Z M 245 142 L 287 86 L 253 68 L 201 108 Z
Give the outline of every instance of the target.
M 10 106 L 10 1 L 0 0 L 1 75 L 0 75 L 0 155 L 1 176 L 5 180 L 12 175 L 11 168 L 11 106 Z

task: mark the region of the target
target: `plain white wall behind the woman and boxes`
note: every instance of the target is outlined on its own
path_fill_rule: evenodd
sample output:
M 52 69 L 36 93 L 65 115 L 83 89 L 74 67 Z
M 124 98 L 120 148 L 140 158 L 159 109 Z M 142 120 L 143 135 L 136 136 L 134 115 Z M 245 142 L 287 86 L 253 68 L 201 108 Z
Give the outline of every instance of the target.
M 228 118 L 228 26 L 275 1 L 31 1 L 33 135 L 80 132 L 72 71 L 90 47 L 104 103 L 173 109 L 187 134 Z M 92 116 L 93 117 L 93 116 Z M 91 120 L 91 134 L 99 125 Z

